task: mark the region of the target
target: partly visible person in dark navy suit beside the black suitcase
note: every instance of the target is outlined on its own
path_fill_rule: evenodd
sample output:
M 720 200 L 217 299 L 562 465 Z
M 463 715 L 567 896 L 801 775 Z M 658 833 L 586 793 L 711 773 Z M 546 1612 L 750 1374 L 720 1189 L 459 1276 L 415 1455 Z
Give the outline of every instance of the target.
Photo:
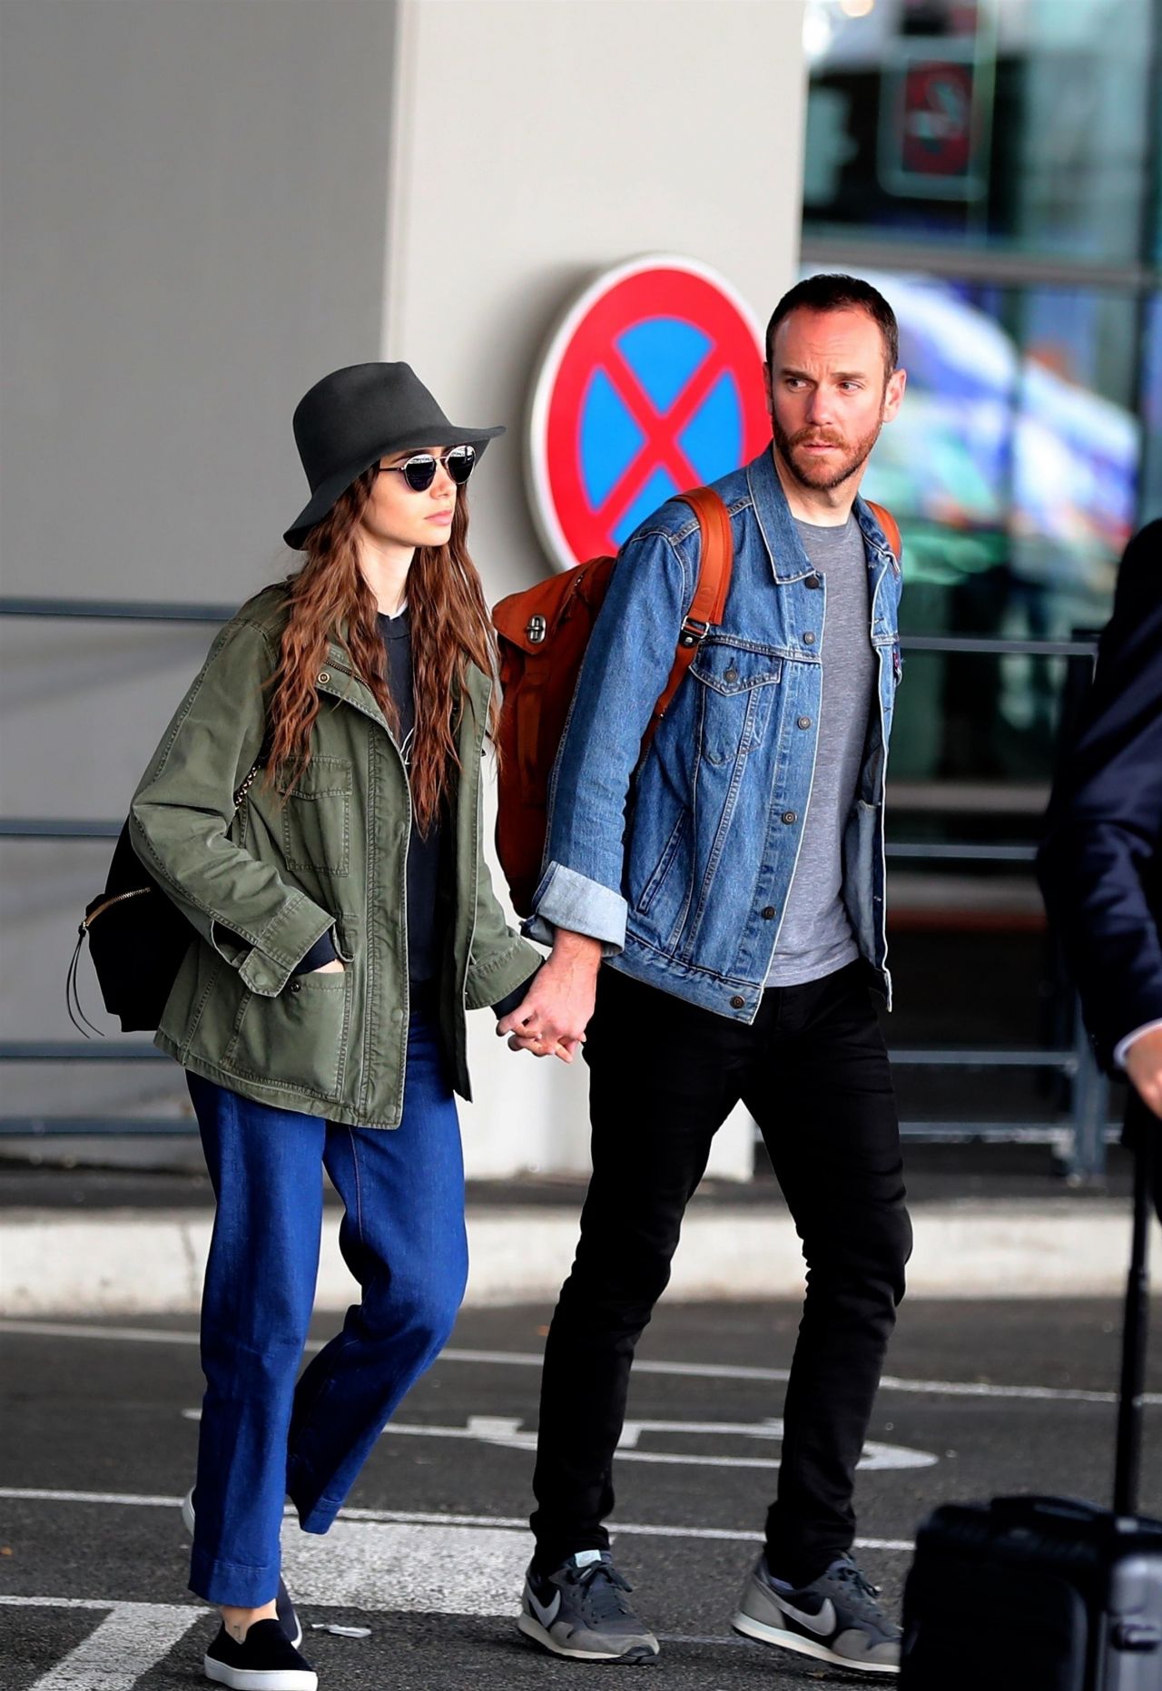
M 1162 1118 L 1162 521 L 1130 543 L 1093 690 L 1049 803 L 1039 876 L 1098 1060 Z M 1154 1157 L 1162 1216 L 1162 1157 Z

